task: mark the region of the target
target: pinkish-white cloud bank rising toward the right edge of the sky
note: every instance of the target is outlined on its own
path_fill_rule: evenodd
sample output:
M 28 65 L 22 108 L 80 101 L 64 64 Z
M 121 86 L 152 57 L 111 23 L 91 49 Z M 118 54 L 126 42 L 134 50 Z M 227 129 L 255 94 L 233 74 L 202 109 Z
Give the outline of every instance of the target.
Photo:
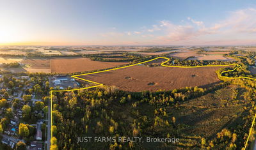
M 207 40 L 228 40 L 228 43 L 230 43 L 230 40 L 237 40 L 246 35 L 250 36 L 251 39 L 255 39 L 250 35 L 256 33 L 256 10 L 254 8 L 230 12 L 227 19 L 207 27 L 205 27 L 202 21 L 192 19 L 191 17 L 188 17 L 188 20 L 190 22 L 186 25 L 173 24 L 168 20 L 160 21 L 158 26 L 162 28 L 161 30 L 164 33 L 161 36 L 157 36 L 157 38 L 161 42 L 169 43 L 178 43 L 177 41 L 193 42 L 193 40 L 198 42 L 198 38 L 201 38 L 202 42 L 209 42 Z

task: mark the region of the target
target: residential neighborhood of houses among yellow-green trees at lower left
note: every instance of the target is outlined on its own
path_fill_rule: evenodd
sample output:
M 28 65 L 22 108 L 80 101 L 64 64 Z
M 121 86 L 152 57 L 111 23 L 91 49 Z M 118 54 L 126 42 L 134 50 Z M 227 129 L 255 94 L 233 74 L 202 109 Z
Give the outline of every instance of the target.
M 0 76 L 0 137 L 4 149 L 39 150 L 47 143 L 49 81 L 32 76 Z

